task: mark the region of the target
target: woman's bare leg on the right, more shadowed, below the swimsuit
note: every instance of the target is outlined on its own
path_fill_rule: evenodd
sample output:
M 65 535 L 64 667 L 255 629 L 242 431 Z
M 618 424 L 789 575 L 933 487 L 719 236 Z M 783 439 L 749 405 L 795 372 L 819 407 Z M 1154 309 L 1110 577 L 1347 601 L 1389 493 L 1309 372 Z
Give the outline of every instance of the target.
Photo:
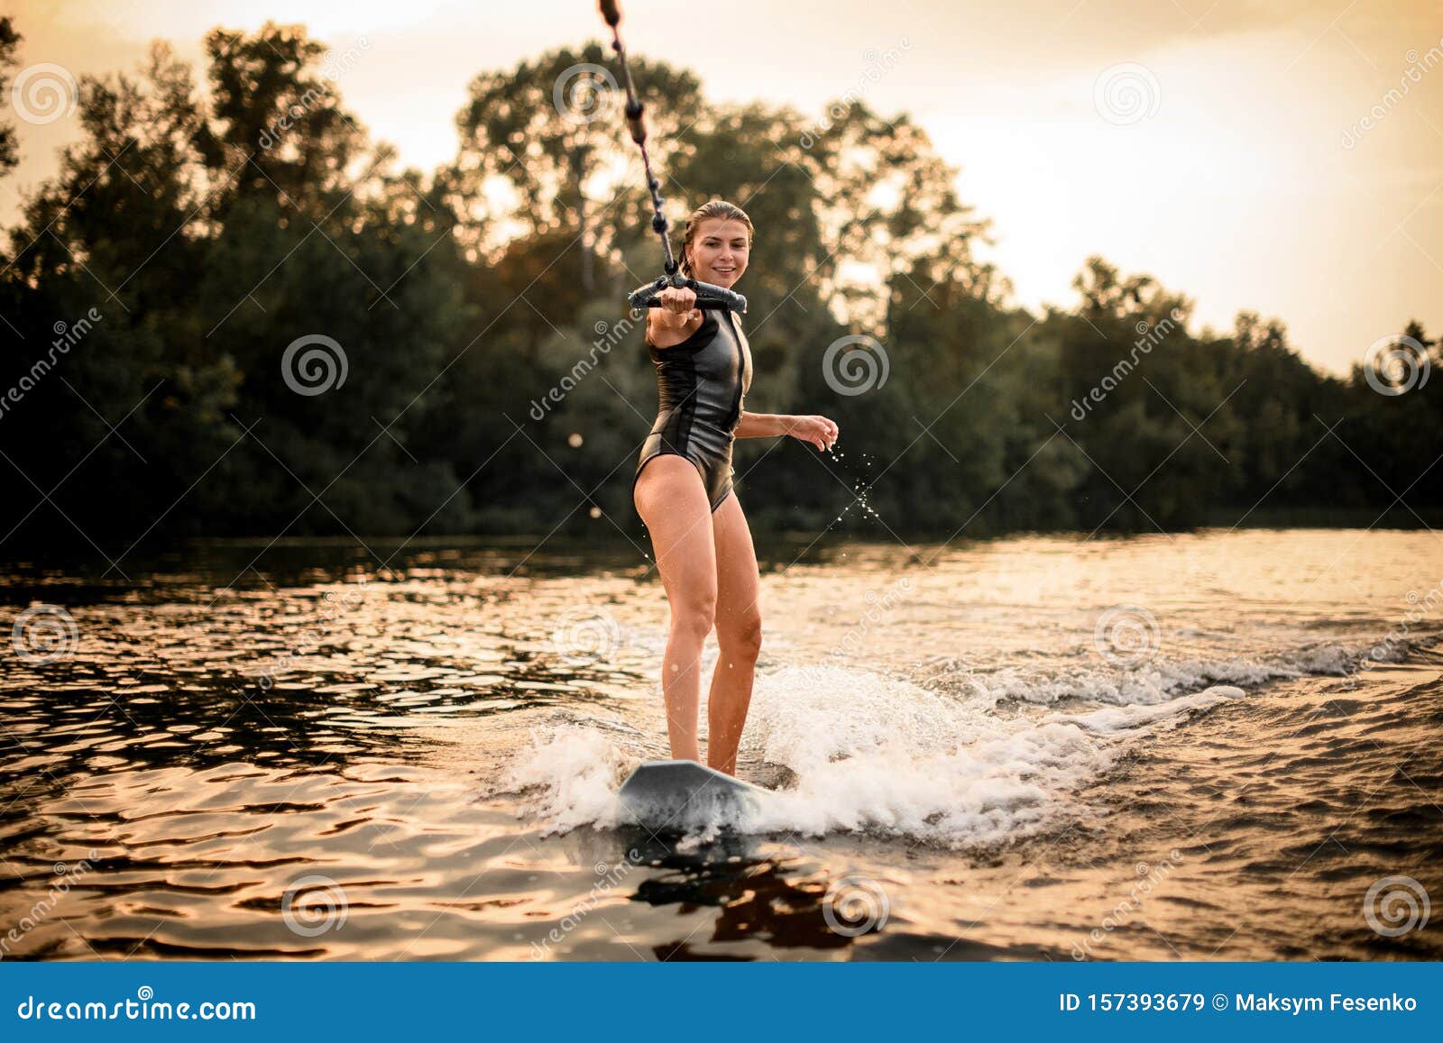
M 717 656 L 707 695 L 707 763 L 736 775 L 736 750 L 752 703 L 762 648 L 760 580 L 752 531 L 733 492 L 711 515 L 717 558 Z

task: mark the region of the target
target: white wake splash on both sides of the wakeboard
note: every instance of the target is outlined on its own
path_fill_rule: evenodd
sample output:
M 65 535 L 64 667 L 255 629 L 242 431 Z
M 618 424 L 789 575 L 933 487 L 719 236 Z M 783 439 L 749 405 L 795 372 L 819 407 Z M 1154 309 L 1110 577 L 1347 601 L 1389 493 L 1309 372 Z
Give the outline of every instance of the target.
M 988 698 L 846 666 L 759 674 L 740 775 L 771 772 L 791 785 L 776 789 L 759 815 L 732 825 L 948 848 L 1023 838 L 1075 815 L 1071 793 L 1113 763 L 1123 740 L 1241 695 L 1241 688 L 1214 685 L 1165 703 L 1006 716 Z M 616 729 L 569 720 L 540 731 L 506 779 L 521 792 L 519 814 L 535 817 L 544 834 L 628 825 L 616 789 L 638 756 L 619 744 Z

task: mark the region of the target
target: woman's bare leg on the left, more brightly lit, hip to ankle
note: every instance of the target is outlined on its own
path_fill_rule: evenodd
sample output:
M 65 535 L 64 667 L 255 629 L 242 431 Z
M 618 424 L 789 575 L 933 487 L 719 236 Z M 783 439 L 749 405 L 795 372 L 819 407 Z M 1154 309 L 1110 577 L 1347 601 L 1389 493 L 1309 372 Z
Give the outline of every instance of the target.
M 646 463 L 636 479 L 633 501 L 651 534 L 671 606 L 671 630 L 661 659 L 671 756 L 701 760 L 697 741 L 701 645 L 711 632 L 717 604 L 711 505 L 696 465 L 670 453 Z

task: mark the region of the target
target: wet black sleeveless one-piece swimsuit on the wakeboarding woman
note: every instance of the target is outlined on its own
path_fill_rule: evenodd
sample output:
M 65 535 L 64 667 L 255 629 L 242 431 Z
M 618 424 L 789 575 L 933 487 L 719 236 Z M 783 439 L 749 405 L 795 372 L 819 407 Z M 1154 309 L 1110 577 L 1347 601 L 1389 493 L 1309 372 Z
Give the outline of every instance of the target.
M 707 309 L 701 326 L 674 348 L 649 340 L 657 366 L 657 423 L 641 447 L 636 478 L 664 453 L 691 460 L 701 472 L 711 509 L 732 492 L 732 441 L 742 421 L 742 397 L 752 387 L 752 349 L 726 309 Z

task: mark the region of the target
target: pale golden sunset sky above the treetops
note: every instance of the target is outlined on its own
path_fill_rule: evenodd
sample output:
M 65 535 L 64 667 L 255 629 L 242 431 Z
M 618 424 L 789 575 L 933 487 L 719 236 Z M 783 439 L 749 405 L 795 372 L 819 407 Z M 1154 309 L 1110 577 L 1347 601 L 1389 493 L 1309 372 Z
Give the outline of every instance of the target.
M 1240 309 L 1278 316 L 1335 372 L 1410 317 L 1443 330 L 1437 0 L 622 6 L 629 48 L 690 65 L 713 100 L 820 115 L 851 89 L 885 115 L 913 114 L 960 167 L 961 198 L 994 221 L 999 242 L 984 255 L 1022 304 L 1071 303 L 1069 281 L 1098 252 L 1189 294 L 1205 323 L 1229 327 Z M 342 50 L 365 38 L 339 89 L 375 137 L 426 170 L 453 156 L 452 121 L 475 72 L 603 29 L 593 0 L 0 9 L 26 38 L 19 71 L 53 62 L 76 76 L 133 69 L 149 40 L 166 38 L 199 81 L 201 36 L 216 25 L 299 22 Z M 889 49 L 900 59 L 867 81 Z M 20 169 L 0 180 L 6 222 L 78 123 L 20 121 L 19 133 Z

